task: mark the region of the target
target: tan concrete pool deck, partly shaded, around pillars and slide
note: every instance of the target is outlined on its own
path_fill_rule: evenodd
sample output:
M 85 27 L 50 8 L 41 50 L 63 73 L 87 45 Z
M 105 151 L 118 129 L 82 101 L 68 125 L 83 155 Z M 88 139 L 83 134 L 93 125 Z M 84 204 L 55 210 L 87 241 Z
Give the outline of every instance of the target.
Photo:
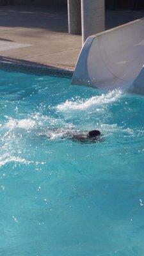
M 141 17 L 144 11 L 109 10 L 106 29 Z M 67 10 L 1 6 L 1 64 L 40 66 L 44 72 L 60 68 L 72 74 L 80 51 L 81 36 L 68 34 Z

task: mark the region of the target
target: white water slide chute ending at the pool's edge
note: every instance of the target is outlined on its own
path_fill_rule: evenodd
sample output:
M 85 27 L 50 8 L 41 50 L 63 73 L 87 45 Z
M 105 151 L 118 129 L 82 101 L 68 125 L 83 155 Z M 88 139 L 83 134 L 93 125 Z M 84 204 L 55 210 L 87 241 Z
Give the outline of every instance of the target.
M 100 89 L 144 91 L 144 19 L 88 37 L 77 60 L 72 84 Z

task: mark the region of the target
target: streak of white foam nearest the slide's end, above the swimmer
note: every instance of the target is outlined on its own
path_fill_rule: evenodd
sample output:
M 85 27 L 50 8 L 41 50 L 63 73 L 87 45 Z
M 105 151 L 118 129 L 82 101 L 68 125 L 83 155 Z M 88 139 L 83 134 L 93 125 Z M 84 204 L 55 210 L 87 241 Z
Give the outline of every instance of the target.
M 106 94 L 100 96 L 93 96 L 90 99 L 86 100 L 77 100 L 77 101 L 69 101 L 66 100 L 64 103 L 58 105 L 56 108 L 59 111 L 68 111 L 68 110 L 83 110 L 88 109 L 92 106 L 104 105 L 110 102 L 116 101 L 122 95 L 122 90 L 113 90 Z

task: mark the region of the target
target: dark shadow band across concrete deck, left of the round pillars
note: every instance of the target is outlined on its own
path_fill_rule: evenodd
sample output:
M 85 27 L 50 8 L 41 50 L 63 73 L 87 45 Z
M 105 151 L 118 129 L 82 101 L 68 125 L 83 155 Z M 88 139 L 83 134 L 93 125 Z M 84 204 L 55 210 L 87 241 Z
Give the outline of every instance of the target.
M 0 26 L 10 28 L 40 28 L 68 32 L 67 10 L 31 6 L 1 6 Z

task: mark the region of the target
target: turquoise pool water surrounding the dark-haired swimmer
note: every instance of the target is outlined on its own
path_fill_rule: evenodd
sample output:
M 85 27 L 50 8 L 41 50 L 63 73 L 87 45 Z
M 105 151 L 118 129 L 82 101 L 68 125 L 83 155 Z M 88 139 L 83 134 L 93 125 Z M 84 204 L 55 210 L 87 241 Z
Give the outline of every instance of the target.
M 2 71 L 0 95 L 0 255 L 144 255 L 143 96 Z

